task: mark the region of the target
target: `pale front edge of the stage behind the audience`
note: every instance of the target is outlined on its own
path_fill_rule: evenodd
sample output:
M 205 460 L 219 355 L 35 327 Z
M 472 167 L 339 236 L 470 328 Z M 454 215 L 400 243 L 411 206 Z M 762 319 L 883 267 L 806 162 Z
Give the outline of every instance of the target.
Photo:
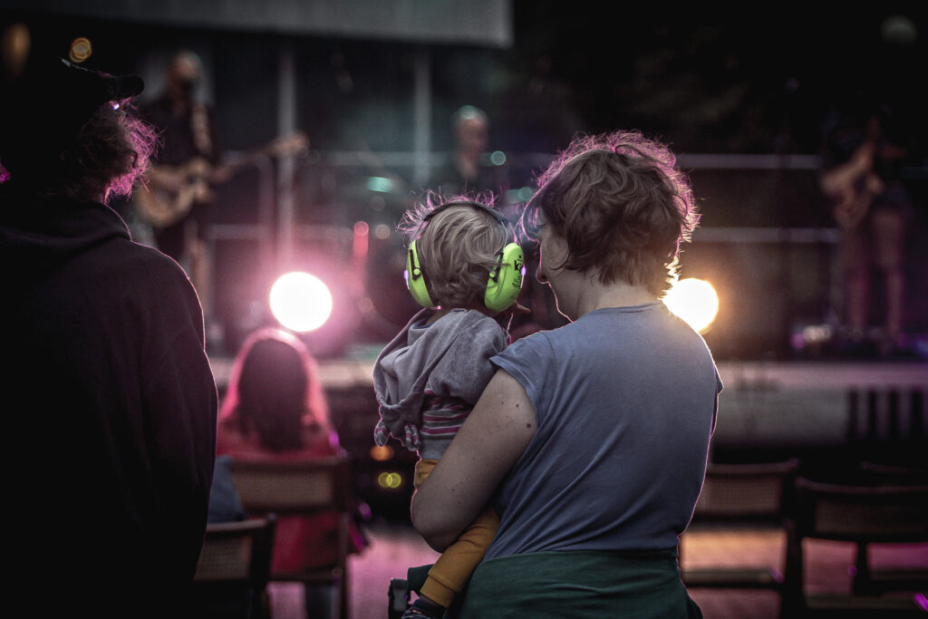
M 230 364 L 225 357 L 213 359 L 220 393 Z M 342 435 L 346 446 L 372 445 L 370 432 L 377 421 L 372 368 L 372 358 L 320 361 L 336 425 L 357 433 L 355 439 Z M 928 436 L 925 361 L 722 361 L 718 371 L 725 383 L 714 437 L 719 449 Z

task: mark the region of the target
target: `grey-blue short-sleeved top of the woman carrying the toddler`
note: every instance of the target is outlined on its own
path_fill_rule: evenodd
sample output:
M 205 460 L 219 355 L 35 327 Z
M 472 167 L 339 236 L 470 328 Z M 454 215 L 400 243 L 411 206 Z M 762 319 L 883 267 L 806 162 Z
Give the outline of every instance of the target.
M 655 301 L 590 312 L 493 357 L 537 432 L 501 484 L 485 560 L 675 548 L 702 489 L 722 382 L 702 337 Z

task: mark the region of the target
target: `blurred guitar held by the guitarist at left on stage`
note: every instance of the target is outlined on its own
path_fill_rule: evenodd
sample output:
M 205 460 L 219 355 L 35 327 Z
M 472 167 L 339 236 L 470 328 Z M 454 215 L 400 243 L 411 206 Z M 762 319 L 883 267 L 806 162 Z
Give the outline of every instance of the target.
M 309 140 L 303 134 L 278 137 L 230 163 L 213 166 L 196 158 L 181 165 L 156 165 L 144 184 L 135 187 L 135 212 L 148 226 L 161 229 L 184 219 L 193 205 L 208 200 L 213 187 L 225 182 L 232 174 L 264 157 L 286 157 L 305 152 Z

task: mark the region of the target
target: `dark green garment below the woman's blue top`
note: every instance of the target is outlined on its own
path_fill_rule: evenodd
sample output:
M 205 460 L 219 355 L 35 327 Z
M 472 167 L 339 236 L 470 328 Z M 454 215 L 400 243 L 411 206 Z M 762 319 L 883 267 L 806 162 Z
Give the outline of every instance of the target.
M 564 551 L 483 561 L 460 600 L 461 619 L 702 618 L 680 582 L 677 548 Z

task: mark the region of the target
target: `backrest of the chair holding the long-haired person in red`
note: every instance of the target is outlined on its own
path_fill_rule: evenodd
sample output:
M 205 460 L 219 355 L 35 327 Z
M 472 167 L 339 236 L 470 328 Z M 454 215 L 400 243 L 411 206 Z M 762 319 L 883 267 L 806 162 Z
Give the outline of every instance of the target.
M 232 479 L 248 514 L 308 515 L 354 509 L 354 458 L 295 462 L 235 459 Z

